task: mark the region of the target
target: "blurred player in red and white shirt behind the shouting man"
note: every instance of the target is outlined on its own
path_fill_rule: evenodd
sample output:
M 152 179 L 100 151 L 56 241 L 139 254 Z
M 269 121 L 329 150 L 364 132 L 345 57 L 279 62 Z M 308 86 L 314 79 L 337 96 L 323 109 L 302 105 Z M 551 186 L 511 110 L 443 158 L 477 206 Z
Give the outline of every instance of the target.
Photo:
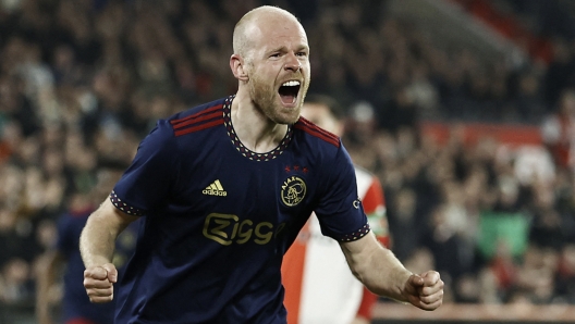
M 344 112 L 328 96 L 309 94 L 302 116 L 338 136 L 343 135 Z M 389 247 L 386 200 L 377 176 L 355 167 L 357 194 L 371 230 Z M 321 234 L 313 215 L 299 232 L 282 264 L 285 308 L 290 324 L 370 323 L 377 296 L 351 273 L 339 244 Z

